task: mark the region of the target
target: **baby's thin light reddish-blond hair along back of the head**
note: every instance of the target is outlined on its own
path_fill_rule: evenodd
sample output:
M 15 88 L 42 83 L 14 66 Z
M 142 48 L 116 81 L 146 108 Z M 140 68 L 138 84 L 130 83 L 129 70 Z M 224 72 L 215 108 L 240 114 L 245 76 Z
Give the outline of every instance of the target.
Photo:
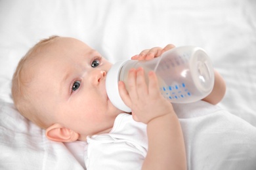
M 40 111 L 33 105 L 35 101 L 31 99 L 29 90 L 32 77 L 28 76 L 26 69 L 33 65 L 33 58 L 38 57 L 37 54 L 40 53 L 42 48 L 53 42 L 57 37 L 58 36 L 54 35 L 48 39 L 43 39 L 30 48 L 26 55 L 20 59 L 16 71 L 12 76 L 12 99 L 16 109 L 20 114 L 28 118 L 28 120 L 43 129 L 47 128 L 49 125 L 43 120 Z

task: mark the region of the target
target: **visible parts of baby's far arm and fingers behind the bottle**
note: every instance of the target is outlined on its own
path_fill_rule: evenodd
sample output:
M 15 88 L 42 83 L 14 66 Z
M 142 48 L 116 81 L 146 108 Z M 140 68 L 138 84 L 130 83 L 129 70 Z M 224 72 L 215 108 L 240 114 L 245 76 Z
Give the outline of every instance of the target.
M 153 58 L 157 58 L 158 56 L 161 56 L 163 52 L 167 50 L 171 50 L 171 48 L 174 48 L 175 46 L 173 44 L 167 44 L 165 48 L 161 47 L 154 47 L 151 49 L 146 49 L 140 52 L 139 55 L 135 55 L 132 57 L 132 59 L 139 59 L 139 60 L 149 60 Z M 216 71 L 214 70 L 214 76 L 215 76 L 215 82 L 213 86 L 213 90 L 209 95 L 207 95 L 203 101 L 207 101 L 208 103 L 211 103 L 213 105 L 216 105 L 219 103 L 226 92 L 226 84 L 224 82 L 223 77 Z

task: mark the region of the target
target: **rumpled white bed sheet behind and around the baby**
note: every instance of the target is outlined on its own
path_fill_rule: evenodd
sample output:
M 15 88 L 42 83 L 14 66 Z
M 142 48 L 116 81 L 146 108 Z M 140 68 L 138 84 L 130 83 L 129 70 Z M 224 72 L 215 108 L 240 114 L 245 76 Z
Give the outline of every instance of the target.
M 226 80 L 219 105 L 255 127 L 255 7 L 253 0 L 1 0 L 0 169 L 85 168 L 84 143 L 48 141 L 12 105 L 19 59 L 50 35 L 87 42 L 112 62 L 168 43 L 200 46 Z

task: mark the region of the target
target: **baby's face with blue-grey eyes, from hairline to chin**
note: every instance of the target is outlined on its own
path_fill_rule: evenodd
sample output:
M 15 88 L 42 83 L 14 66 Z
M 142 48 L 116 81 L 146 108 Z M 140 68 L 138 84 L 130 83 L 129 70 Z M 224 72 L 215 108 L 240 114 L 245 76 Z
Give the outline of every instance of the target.
M 33 87 L 51 124 L 76 131 L 80 140 L 110 131 L 121 112 L 106 94 L 112 64 L 87 44 L 66 37 L 57 38 L 40 55 Z

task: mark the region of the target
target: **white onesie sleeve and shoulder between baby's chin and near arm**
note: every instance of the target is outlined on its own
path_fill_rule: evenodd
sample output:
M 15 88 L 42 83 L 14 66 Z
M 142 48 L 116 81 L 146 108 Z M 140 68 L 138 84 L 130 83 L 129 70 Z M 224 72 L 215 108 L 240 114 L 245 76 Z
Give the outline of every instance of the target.
M 146 125 L 119 114 L 110 133 L 87 137 L 87 169 L 141 169 L 147 152 Z M 121 148 L 121 149 L 120 149 Z

